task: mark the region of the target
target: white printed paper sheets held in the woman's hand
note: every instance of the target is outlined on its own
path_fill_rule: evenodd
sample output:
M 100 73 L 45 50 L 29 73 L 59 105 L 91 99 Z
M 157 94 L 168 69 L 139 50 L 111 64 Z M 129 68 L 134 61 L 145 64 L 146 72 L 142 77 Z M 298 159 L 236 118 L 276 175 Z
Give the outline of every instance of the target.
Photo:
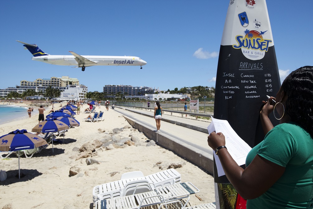
M 233 157 L 238 165 L 244 165 L 247 154 L 252 149 L 229 125 L 227 120 L 219 120 L 212 117 L 212 122 L 208 126 L 208 133 L 222 132 L 225 136 L 225 146 L 229 154 Z M 218 176 L 225 175 L 221 162 L 213 150 Z

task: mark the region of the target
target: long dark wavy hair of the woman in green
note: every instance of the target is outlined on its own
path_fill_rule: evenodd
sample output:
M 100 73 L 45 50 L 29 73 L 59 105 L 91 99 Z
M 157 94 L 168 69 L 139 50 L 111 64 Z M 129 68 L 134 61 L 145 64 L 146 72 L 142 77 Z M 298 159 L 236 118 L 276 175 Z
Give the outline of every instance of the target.
M 292 71 L 281 85 L 286 92 L 286 113 L 313 137 L 313 66 Z

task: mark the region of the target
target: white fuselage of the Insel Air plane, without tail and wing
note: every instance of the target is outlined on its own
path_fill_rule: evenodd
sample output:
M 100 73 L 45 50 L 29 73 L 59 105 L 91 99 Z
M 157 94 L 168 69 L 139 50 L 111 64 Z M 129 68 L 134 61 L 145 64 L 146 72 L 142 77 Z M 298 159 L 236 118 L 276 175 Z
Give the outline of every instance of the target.
M 141 60 L 135 56 L 92 56 L 82 55 L 84 58 L 91 60 L 95 63 L 85 64 L 85 66 L 96 66 L 96 65 L 131 65 L 141 66 L 146 65 L 146 61 Z M 73 55 L 44 55 L 38 57 L 32 57 L 32 60 L 49 63 L 52 65 L 76 65 L 78 62 L 75 60 Z

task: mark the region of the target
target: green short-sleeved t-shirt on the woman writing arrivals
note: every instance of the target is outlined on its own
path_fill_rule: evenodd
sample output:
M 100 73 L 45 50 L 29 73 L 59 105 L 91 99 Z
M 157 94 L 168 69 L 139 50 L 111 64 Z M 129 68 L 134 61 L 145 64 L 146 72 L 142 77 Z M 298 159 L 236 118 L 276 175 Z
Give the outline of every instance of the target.
M 248 154 L 246 166 L 259 156 L 286 168 L 261 196 L 248 200 L 247 208 L 313 207 L 313 139 L 297 123 L 275 126 Z

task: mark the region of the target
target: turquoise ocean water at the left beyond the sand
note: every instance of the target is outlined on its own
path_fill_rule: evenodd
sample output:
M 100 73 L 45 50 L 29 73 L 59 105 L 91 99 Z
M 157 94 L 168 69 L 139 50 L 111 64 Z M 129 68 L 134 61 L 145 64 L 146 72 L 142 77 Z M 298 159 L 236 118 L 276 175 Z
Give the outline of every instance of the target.
M 0 125 L 15 120 L 28 118 L 27 109 L 28 107 L 0 105 Z

